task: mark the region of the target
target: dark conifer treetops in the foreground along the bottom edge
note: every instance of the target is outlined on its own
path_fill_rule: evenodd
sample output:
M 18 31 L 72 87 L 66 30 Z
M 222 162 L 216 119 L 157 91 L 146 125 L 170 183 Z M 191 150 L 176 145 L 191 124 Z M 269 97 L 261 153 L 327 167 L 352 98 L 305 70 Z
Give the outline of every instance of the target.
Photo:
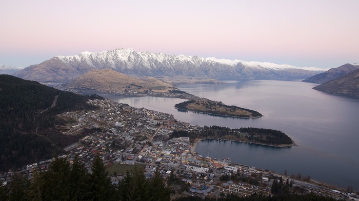
M 122 179 L 111 180 L 99 155 L 94 157 L 90 171 L 77 157 L 72 163 L 66 158 L 56 158 L 48 171 L 34 170 L 30 180 L 18 174 L 14 175 L 9 185 L 0 187 L 0 200 L 334 200 L 313 193 L 282 193 L 273 196 L 253 194 L 250 197 L 228 194 L 218 199 L 202 199 L 196 196 L 175 198 L 172 188 L 174 180 L 176 177 L 173 174 L 164 179 L 158 169 L 152 177 L 146 178 L 143 170 L 136 168 L 127 171 Z M 183 189 L 185 190 L 186 188 Z

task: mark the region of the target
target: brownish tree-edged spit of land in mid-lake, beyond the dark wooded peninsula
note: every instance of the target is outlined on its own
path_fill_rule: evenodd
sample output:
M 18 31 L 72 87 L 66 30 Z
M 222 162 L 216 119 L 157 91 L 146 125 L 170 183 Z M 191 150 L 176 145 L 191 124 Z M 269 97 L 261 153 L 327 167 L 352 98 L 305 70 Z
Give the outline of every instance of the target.
M 192 111 L 236 118 L 258 118 L 263 116 L 261 113 L 254 110 L 237 106 L 227 106 L 222 102 L 216 102 L 207 98 L 188 100 L 176 104 L 174 107 L 179 111 Z

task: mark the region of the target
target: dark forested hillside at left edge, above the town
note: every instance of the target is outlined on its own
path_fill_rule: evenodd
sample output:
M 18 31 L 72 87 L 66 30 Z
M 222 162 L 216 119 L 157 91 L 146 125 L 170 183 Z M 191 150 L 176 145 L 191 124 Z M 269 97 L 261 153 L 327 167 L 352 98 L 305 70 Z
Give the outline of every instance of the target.
M 0 75 L 0 169 L 17 168 L 61 152 L 62 146 L 75 139 L 52 128 L 55 115 L 89 108 L 89 98 Z

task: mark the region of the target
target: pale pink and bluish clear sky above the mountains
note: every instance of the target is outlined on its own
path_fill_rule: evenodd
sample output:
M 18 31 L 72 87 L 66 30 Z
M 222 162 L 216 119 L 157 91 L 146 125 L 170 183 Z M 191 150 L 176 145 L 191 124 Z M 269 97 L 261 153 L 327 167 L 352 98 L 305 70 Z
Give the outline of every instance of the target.
M 0 0 L 0 64 L 132 48 L 297 67 L 359 63 L 357 0 Z

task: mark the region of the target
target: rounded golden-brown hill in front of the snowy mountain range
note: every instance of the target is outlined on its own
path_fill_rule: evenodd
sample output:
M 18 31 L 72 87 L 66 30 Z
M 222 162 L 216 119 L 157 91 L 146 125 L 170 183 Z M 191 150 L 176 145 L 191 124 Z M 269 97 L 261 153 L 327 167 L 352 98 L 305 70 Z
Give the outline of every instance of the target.
M 64 86 L 66 89 L 97 92 L 168 92 L 176 89 L 154 77 L 135 78 L 111 69 L 91 70 Z

